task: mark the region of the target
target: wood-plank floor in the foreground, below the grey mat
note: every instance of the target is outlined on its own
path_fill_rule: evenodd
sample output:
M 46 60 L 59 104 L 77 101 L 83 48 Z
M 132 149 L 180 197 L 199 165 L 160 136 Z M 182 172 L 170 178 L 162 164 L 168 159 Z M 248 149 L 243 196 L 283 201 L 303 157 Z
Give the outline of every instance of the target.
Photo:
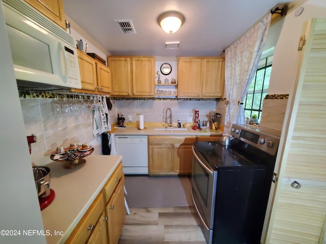
M 119 244 L 206 244 L 193 206 L 129 210 Z

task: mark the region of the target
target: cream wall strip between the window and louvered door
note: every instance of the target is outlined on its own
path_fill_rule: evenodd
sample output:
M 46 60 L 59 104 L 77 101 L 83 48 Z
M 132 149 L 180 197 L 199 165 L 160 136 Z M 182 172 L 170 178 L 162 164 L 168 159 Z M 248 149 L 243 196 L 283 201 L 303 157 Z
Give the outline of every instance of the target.
M 295 82 L 300 52 L 297 51 L 304 22 L 326 17 L 325 0 L 309 0 L 302 5 L 304 12 L 295 16 L 295 9 L 285 16 L 282 31 L 275 47 L 268 94 L 288 94 Z

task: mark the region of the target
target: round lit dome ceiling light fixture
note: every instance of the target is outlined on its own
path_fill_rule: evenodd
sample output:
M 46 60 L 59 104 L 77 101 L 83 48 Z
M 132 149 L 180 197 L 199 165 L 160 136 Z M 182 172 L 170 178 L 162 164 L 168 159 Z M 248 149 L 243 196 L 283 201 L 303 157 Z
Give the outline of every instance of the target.
M 184 22 L 184 16 L 176 11 L 168 11 L 160 14 L 157 23 L 167 33 L 175 33 Z

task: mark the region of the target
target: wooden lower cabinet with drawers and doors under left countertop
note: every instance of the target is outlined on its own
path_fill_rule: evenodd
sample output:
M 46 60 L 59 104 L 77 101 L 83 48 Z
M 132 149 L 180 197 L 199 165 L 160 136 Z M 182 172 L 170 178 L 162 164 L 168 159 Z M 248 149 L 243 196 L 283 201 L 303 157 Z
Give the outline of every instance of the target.
M 118 244 L 125 218 L 120 163 L 65 243 Z

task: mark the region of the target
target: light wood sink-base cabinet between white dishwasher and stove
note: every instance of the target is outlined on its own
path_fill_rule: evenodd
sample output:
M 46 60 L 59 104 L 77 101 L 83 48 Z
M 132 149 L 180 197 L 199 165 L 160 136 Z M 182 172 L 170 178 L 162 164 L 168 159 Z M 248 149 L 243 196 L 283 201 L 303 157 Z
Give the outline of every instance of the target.
M 193 143 L 218 141 L 221 136 L 148 136 L 150 175 L 191 175 Z

